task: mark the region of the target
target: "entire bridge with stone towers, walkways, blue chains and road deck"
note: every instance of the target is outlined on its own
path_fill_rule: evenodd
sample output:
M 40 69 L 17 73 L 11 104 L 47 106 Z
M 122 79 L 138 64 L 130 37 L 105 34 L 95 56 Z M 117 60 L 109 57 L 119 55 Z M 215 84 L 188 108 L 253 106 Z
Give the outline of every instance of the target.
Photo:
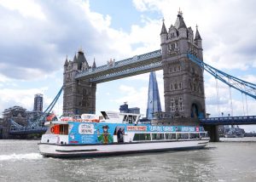
M 107 65 L 98 67 L 95 61 L 93 65 L 88 64 L 82 50 L 75 54 L 73 60 L 66 59 L 62 87 L 63 115 L 95 113 L 98 83 L 163 70 L 166 112 L 163 116 L 168 117 L 162 117 L 160 122 L 183 124 L 184 121 L 189 121 L 186 124 L 190 125 L 201 123 L 209 131 L 212 141 L 218 141 L 218 125 L 256 124 L 255 116 L 206 118 L 204 71 L 253 99 L 256 99 L 256 85 L 207 65 L 203 61 L 202 39 L 198 27 L 196 26 L 194 34 L 192 28 L 186 26 L 182 12 L 178 12 L 175 24 L 171 25 L 168 31 L 163 21 L 160 30 L 160 47 L 161 49 L 153 52 L 125 60 L 109 60 Z M 47 110 L 51 111 L 62 88 Z M 44 111 L 45 113 L 49 112 Z M 20 134 L 22 129 L 24 133 L 35 129 L 30 128 L 21 128 L 12 132 Z

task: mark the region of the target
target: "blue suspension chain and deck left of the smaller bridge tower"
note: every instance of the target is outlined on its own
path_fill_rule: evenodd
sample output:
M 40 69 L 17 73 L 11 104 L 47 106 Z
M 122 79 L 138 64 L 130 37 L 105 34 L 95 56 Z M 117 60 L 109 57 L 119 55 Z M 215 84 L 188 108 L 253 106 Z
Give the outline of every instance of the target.
M 55 96 L 55 99 L 50 103 L 46 110 L 40 115 L 35 121 L 28 119 L 27 125 L 22 126 L 17 122 L 10 119 L 10 131 L 9 134 L 41 134 L 47 130 L 47 127 L 44 127 L 45 117 L 47 117 L 55 106 L 57 100 L 59 100 L 63 86 L 61 87 L 58 94 Z

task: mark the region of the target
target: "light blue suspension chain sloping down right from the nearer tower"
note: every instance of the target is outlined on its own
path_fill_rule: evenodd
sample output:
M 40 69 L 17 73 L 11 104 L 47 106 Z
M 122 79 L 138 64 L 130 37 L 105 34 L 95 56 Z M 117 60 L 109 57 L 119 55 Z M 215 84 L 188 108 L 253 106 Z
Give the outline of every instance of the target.
M 239 90 L 243 94 L 247 94 L 256 100 L 256 84 L 252 82 L 247 82 L 241 80 L 240 78 L 233 77 L 224 71 L 219 71 L 218 69 L 208 65 L 207 63 L 199 60 L 195 55 L 188 54 L 189 60 L 192 60 L 195 64 L 200 65 L 205 71 L 209 72 L 213 77 L 216 77 L 221 82 L 229 85 L 231 88 Z

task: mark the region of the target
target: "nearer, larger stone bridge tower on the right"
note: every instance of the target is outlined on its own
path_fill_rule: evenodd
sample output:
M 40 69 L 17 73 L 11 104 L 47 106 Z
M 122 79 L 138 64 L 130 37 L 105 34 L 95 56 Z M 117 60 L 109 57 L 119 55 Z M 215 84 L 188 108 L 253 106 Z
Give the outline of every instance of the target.
M 196 26 L 195 37 L 181 11 L 174 26 L 160 32 L 166 113 L 172 117 L 204 117 L 206 114 L 203 70 L 187 58 L 195 54 L 203 60 L 202 39 Z

